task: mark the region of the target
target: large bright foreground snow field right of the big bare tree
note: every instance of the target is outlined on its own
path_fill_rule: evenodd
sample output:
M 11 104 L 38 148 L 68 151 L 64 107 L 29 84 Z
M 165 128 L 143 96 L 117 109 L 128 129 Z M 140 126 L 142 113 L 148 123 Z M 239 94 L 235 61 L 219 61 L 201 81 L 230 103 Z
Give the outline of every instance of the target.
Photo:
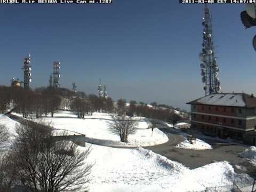
M 244 182 L 243 175 L 234 173 L 228 162 L 216 162 L 190 170 L 181 163 L 140 147 L 91 147 L 91 154 L 86 160 L 95 163 L 89 183 L 91 192 L 182 192 L 231 186 L 237 177 L 237 181 Z M 81 147 L 81 150 L 84 148 Z

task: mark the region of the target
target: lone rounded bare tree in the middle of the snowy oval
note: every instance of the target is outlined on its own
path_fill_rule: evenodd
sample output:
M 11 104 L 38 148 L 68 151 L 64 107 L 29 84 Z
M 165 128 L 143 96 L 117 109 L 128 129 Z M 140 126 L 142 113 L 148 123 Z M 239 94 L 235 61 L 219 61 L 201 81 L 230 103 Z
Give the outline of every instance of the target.
M 130 116 L 111 115 L 113 121 L 107 123 L 110 132 L 119 135 L 122 142 L 128 142 L 128 136 L 137 131 L 138 121 Z

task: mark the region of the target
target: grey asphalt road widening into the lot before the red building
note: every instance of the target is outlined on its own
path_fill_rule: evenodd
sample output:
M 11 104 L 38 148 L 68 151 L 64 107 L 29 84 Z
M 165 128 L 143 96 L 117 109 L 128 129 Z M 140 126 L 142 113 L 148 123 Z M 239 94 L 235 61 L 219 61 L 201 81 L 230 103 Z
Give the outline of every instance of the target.
M 236 173 L 255 172 L 256 167 L 247 162 L 247 159 L 239 157 L 239 153 L 243 152 L 249 146 L 234 145 L 230 143 L 220 143 L 220 141 L 209 139 L 209 143 L 213 149 L 210 150 L 191 150 L 175 148 L 174 146 L 182 142 L 184 138 L 175 134 L 171 129 L 163 129 L 169 137 L 169 141 L 162 145 L 143 147 L 153 150 L 155 153 L 163 155 L 173 161 L 180 162 L 190 169 L 204 166 L 209 163 L 228 161 L 233 165 Z M 242 169 L 237 169 L 235 165 L 239 165 Z

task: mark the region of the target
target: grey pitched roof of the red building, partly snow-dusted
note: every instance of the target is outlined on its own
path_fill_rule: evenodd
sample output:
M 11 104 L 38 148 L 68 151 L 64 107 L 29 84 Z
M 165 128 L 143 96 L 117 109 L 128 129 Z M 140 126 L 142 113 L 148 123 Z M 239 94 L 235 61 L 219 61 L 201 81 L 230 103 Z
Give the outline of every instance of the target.
M 187 102 L 190 105 L 214 105 L 233 107 L 256 107 L 256 98 L 246 93 L 217 93 L 206 95 L 194 101 Z

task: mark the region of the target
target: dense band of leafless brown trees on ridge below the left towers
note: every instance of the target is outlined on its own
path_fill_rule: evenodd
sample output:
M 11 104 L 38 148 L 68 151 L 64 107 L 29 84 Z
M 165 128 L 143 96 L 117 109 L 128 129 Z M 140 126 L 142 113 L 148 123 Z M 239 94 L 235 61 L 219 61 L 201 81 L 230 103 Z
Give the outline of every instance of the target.
M 39 118 L 49 113 L 53 117 L 59 109 L 76 111 L 77 117 L 82 118 L 94 111 L 111 113 L 114 102 L 111 98 L 99 98 L 95 94 L 86 95 L 63 88 L 39 87 L 31 91 L 22 87 L 0 86 L 0 112 L 11 108 L 26 118 L 29 114 Z

